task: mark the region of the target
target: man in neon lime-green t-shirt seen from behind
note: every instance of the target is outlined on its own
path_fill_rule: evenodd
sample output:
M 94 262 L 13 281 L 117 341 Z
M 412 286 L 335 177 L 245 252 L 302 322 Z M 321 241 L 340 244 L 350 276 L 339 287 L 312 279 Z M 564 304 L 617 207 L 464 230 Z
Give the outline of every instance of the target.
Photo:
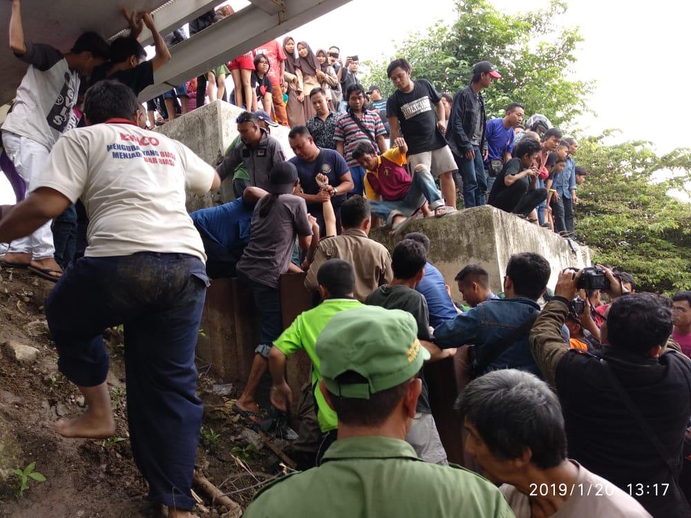
M 362 306 L 353 298 L 355 273 L 350 262 L 337 258 L 325 261 L 316 273 L 316 282 L 322 303 L 299 314 L 290 327 L 274 341 L 274 347 L 269 352 L 269 370 L 274 380 L 271 402 L 283 412 L 287 412 L 287 406 L 292 404 L 292 391 L 285 381 L 287 356 L 302 349 L 312 360 L 311 383 L 303 387 L 297 408 L 300 419 L 299 437 L 292 444 L 290 452 L 290 457 L 296 460 L 299 470 L 316 466 L 326 448 L 336 440 L 338 426 L 336 412 L 326 403 L 319 390 L 321 375 L 319 358 L 314 351 L 316 339 L 339 311 Z

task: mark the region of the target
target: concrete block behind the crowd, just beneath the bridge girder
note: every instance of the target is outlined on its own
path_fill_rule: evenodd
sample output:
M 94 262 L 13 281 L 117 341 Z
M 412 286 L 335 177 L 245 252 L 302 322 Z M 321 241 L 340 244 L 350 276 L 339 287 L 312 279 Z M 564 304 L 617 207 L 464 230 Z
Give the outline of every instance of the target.
M 216 166 L 223 159 L 225 150 L 238 136 L 235 119 L 240 113 L 243 110 L 234 104 L 216 100 L 159 126 L 156 131 L 182 142 L 202 160 Z M 288 131 L 290 130 L 285 126 L 271 128 L 271 135 L 281 142 L 283 153 L 290 158 L 294 153 L 288 144 Z M 228 178 L 216 193 L 204 196 L 188 194 L 187 210 L 196 211 L 234 199 L 232 181 Z

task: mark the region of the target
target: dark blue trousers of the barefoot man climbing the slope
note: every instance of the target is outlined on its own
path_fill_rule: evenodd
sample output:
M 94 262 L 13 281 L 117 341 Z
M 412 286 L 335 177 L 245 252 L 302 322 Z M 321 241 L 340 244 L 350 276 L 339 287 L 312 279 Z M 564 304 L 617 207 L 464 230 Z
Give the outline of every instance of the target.
M 58 367 L 70 381 L 106 380 L 102 332 L 124 324 L 127 416 L 132 454 L 149 499 L 191 509 L 202 421 L 194 349 L 207 289 L 204 263 L 182 253 L 84 257 L 46 300 Z

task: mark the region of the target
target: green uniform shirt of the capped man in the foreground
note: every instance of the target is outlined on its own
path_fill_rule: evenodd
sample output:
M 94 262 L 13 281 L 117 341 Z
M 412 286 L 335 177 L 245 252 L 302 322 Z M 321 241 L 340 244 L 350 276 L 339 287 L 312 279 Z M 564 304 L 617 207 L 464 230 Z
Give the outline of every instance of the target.
M 321 466 L 267 486 L 244 516 L 514 518 L 480 475 L 421 461 L 408 443 L 387 437 L 336 441 Z

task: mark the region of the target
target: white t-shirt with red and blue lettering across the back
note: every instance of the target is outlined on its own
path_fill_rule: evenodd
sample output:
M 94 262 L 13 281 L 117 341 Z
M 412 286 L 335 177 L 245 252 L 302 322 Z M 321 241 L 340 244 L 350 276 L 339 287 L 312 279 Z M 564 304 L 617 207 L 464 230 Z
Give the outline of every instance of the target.
M 185 189 L 209 191 L 214 168 L 176 140 L 115 120 L 60 137 L 37 188 L 55 189 L 71 202 L 82 198 L 87 257 L 151 251 L 206 260 Z

